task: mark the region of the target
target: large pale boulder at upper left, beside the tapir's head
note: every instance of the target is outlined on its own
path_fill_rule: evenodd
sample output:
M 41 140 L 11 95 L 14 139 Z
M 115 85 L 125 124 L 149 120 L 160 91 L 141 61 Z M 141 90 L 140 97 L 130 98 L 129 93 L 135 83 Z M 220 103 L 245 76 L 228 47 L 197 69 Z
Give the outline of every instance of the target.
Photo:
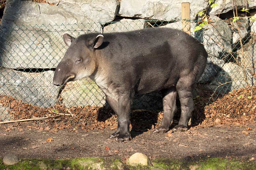
M 100 24 L 76 24 L 82 21 L 59 6 L 7 1 L 1 22 L 0 65 L 15 69 L 55 68 L 67 49 L 62 40 L 64 32 L 75 37 L 102 32 Z

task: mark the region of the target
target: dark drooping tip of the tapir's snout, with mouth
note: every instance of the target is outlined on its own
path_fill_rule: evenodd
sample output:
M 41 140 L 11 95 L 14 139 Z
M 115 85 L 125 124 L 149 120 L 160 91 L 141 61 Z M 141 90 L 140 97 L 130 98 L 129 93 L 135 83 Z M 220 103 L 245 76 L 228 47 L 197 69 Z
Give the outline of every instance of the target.
M 71 73 L 70 69 L 65 66 L 65 64 L 58 64 L 53 76 L 53 85 L 61 86 L 75 78 L 75 74 Z

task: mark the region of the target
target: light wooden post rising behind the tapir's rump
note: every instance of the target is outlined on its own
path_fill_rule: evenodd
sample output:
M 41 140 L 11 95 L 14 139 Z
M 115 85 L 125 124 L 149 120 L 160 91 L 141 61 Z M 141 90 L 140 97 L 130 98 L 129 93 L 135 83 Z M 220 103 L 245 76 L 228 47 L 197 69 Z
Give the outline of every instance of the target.
M 191 28 L 190 28 L 190 3 L 189 2 L 182 2 L 181 3 L 181 19 L 182 19 L 182 30 L 187 33 L 191 34 Z

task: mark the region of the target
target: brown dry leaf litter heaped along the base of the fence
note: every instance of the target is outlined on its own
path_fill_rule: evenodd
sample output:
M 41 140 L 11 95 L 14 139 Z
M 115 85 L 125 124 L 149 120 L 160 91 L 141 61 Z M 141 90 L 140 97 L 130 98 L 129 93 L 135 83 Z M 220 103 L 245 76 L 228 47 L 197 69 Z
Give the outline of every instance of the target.
M 256 86 L 251 88 L 241 88 L 233 90 L 225 94 L 215 101 L 209 102 L 209 97 L 212 96 L 208 91 L 202 90 L 200 96 L 194 98 L 195 110 L 193 111 L 193 122 L 191 128 L 212 127 L 212 126 L 249 126 L 256 123 Z M 250 96 L 250 97 L 248 97 Z M 208 105 L 206 103 L 209 103 Z M 117 116 L 114 111 L 109 108 L 97 106 L 78 106 L 65 107 L 64 105 L 56 104 L 50 108 L 41 108 L 32 104 L 23 103 L 11 96 L 1 95 L 0 106 L 8 106 L 11 120 L 41 118 L 49 116 L 51 118 L 45 120 L 33 120 L 27 122 L 27 127 L 36 128 L 38 130 L 48 130 L 57 132 L 62 128 L 76 129 L 80 127 L 86 132 L 90 130 L 116 129 Z M 174 121 L 179 119 L 180 109 Z M 53 117 L 57 116 L 57 117 Z M 163 112 L 150 110 L 134 110 L 131 113 L 130 127 L 135 131 L 147 131 L 160 126 L 163 117 Z M 21 123 L 13 123 L 13 127 L 17 127 Z M 173 123 L 175 124 L 175 123 Z M 10 125 L 10 124 L 9 124 Z M 5 131 L 11 130 L 10 127 L 2 126 Z M 20 128 L 22 131 L 22 129 Z M 247 133 L 250 129 L 247 130 Z M 245 133 L 245 134 L 247 134 Z M 171 137 L 171 134 L 167 134 Z

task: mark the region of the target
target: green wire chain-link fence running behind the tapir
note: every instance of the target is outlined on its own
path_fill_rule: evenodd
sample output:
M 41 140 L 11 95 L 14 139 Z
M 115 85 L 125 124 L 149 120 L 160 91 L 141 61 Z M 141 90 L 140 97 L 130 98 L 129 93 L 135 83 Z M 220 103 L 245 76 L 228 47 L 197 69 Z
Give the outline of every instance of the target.
M 194 92 L 195 99 L 203 97 L 203 106 L 206 106 L 232 90 L 250 89 L 255 85 L 256 26 L 253 27 L 252 22 L 248 19 L 235 23 L 232 20 L 210 21 L 209 25 L 196 32 L 193 29 L 200 21 L 189 22 L 191 35 L 204 44 L 208 53 L 205 71 Z M 64 87 L 52 84 L 54 70 L 67 50 L 63 33 L 77 37 L 91 32 L 104 34 L 157 26 L 181 29 L 182 21 L 120 19 L 111 23 L 2 25 L 0 95 L 11 96 L 39 108 L 50 108 L 56 104 L 67 108 L 79 106 L 81 110 L 88 105 L 105 106 L 104 93 L 90 79 L 69 82 Z M 158 92 L 138 95 L 133 102 L 133 109 L 161 110 L 161 107 L 161 94 Z M 255 107 L 251 105 L 251 109 Z M 10 119 L 8 113 L 0 111 L 0 120 Z

